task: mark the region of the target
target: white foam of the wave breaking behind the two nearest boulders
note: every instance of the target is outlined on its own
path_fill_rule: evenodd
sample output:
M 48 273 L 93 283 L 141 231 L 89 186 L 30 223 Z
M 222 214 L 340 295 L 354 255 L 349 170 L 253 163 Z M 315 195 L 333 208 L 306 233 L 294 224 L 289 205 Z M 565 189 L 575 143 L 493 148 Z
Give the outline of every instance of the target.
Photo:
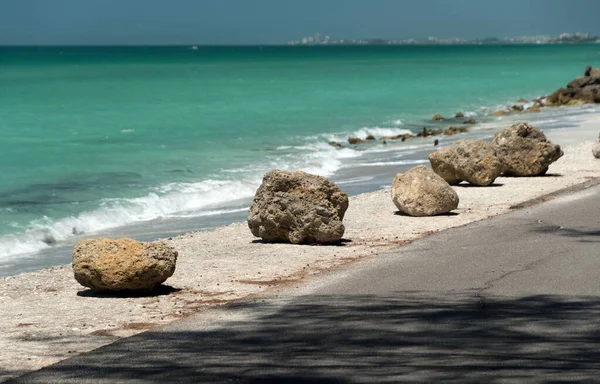
M 57 244 L 72 243 L 85 236 L 140 222 L 241 212 L 247 207 L 228 207 L 234 201 L 238 202 L 236 206 L 249 205 L 262 175 L 273 168 L 331 176 L 342 167 L 344 159 L 361 155 L 351 148 L 336 149 L 327 142 L 314 140 L 298 146 L 278 148 L 261 164 L 217 171 L 221 175 L 237 176 L 239 179 L 230 180 L 227 177 L 196 183 L 167 183 L 140 197 L 105 198 L 98 202 L 96 209 L 76 216 L 58 220 L 41 217 L 30 222 L 20 233 L 0 236 L 0 259 L 32 254 Z

